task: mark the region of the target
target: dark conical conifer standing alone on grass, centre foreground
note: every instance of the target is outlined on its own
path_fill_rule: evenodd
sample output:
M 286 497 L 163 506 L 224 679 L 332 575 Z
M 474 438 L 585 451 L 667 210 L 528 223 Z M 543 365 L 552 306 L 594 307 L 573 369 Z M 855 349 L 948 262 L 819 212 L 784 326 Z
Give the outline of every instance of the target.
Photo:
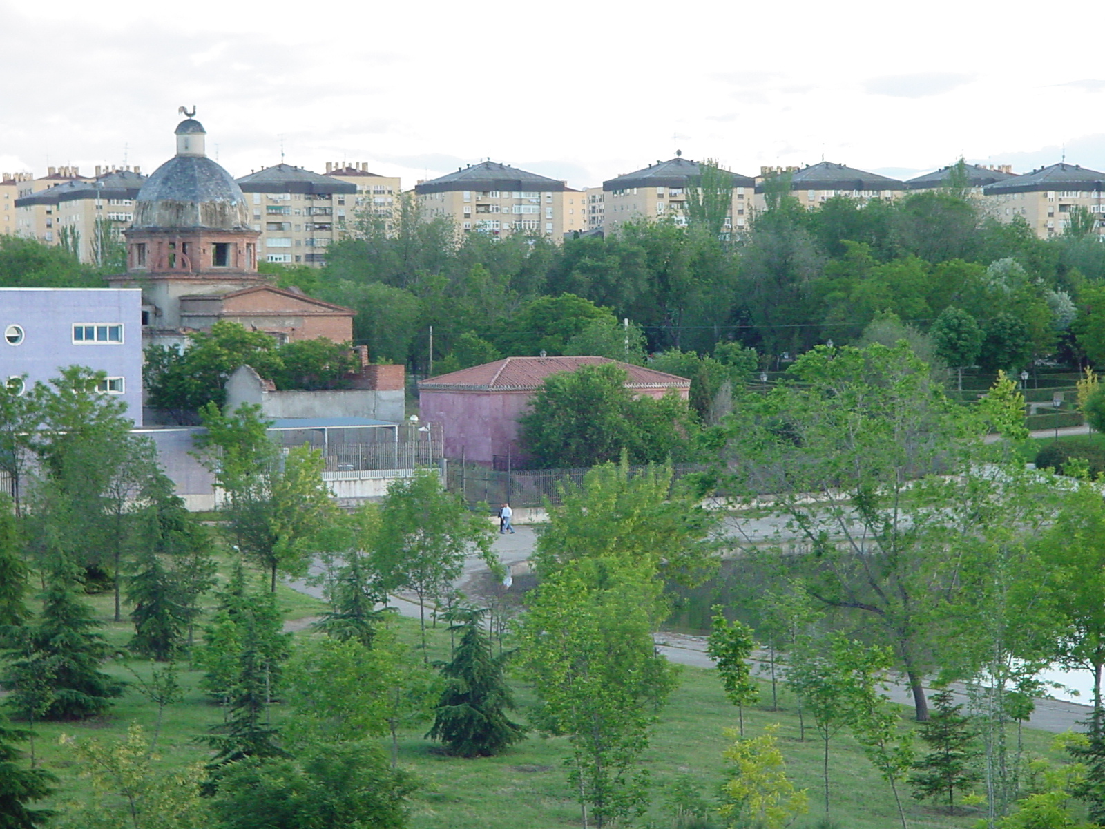
M 442 665 L 450 682 L 427 734 L 461 757 L 491 757 L 525 738 L 525 728 L 503 713 L 514 707 L 503 678 L 509 654 L 492 655 L 491 639 L 480 627 L 485 612 L 472 610 L 452 626 L 463 632 L 452 661 Z

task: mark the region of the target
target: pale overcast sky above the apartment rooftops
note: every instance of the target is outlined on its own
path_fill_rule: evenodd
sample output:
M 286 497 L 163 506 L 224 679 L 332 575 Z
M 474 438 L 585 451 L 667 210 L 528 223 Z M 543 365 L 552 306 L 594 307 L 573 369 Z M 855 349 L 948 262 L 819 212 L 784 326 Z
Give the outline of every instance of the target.
M 1063 147 L 1105 169 L 1105 12 L 1025 8 L 0 0 L 0 171 L 151 171 L 182 104 L 234 176 L 283 137 L 288 164 L 367 161 L 404 188 L 487 157 L 586 187 L 676 148 L 745 175 L 1024 171 Z

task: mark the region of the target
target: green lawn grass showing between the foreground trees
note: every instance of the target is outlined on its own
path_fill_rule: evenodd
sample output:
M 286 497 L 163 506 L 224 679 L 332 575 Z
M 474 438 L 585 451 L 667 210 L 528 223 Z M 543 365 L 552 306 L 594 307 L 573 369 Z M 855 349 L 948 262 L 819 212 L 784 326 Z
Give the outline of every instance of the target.
M 307 597 L 282 594 L 290 618 L 317 612 L 320 605 Z M 110 597 L 94 597 L 102 617 L 110 612 Z M 106 619 L 105 619 L 106 621 Z M 399 637 L 413 644 L 418 639 L 418 622 L 396 619 L 392 626 Z M 122 643 L 129 636 L 126 625 L 107 623 L 113 642 Z M 297 638 L 316 636 L 309 631 L 296 633 Z M 430 659 L 448 658 L 449 634 L 442 627 L 430 631 Z M 151 664 L 133 661 L 131 667 L 148 675 Z M 122 664 L 107 670 L 123 679 L 130 679 Z M 222 720 L 219 706 L 210 703 L 198 690 L 200 673 L 181 665 L 180 680 L 187 691 L 182 703 L 166 712 L 158 754 L 161 768 L 179 767 L 201 762 L 208 749 L 194 738 Z M 534 699 L 527 688 L 515 681 L 516 715 L 523 722 Z M 769 711 L 770 690 L 761 688 L 762 704 L 745 711 L 746 731 L 761 734 L 769 724 L 779 723 L 777 733 L 780 747 L 788 763 L 788 774 L 800 788 L 809 789 L 810 815 L 796 825 L 798 829 L 814 826 L 822 814 L 821 800 L 821 743 L 808 730 L 806 742 L 799 739 L 799 723 L 793 700 L 782 693 L 780 711 Z M 912 728 L 907 710 L 901 709 L 903 728 Z M 286 716 L 278 705 L 273 717 Z M 54 804 L 65 804 L 85 796 L 87 783 L 80 779 L 72 751 L 59 743 L 62 734 L 82 738 L 117 739 L 131 723 L 152 733 L 156 706 L 146 701 L 131 686 L 108 715 L 82 723 L 50 723 L 40 726 L 36 748 L 44 765 L 61 778 L 61 790 Z M 728 704 L 713 671 L 684 668 L 678 689 L 663 709 L 660 724 L 651 745 L 642 758 L 643 767 L 651 774 L 653 806 L 643 826 L 667 829 L 673 826 L 664 800 L 672 784 L 690 774 L 703 786 L 707 796 L 716 793 L 724 775 L 722 752 L 730 743 L 725 728 L 737 725 L 736 709 Z M 562 737 L 543 738 L 533 733 L 522 744 L 498 757 L 474 760 L 448 757 L 435 744 L 423 738 L 428 724 L 410 728 L 400 739 L 400 763 L 414 772 L 422 781 L 413 796 L 412 829 L 554 829 L 579 825 L 579 807 L 567 786 L 564 759 L 568 755 L 567 741 Z M 1025 731 L 1028 751 L 1059 759 L 1050 747 L 1052 735 Z M 848 736 L 839 736 L 831 744 L 832 814 L 841 826 L 849 829 L 885 829 L 896 825 L 897 817 L 887 785 L 872 768 L 859 746 Z M 906 787 L 907 788 L 907 787 Z M 947 818 L 924 804 L 905 795 L 911 825 L 916 827 L 944 827 L 947 829 L 974 825 L 976 816 Z

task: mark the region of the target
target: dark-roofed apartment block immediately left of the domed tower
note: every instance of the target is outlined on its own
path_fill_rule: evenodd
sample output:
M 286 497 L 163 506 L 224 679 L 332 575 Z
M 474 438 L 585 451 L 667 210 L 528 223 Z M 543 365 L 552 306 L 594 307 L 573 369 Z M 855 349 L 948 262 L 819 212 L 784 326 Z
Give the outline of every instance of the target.
M 145 180 L 137 167 L 96 167 L 94 178 L 62 181 L 19 198 L 15 207 L 38 222 L 33 238 L 63 244 L 82 262 L 104 264 L 124 245 L 123 231 L 134 221 L 134 200 Z

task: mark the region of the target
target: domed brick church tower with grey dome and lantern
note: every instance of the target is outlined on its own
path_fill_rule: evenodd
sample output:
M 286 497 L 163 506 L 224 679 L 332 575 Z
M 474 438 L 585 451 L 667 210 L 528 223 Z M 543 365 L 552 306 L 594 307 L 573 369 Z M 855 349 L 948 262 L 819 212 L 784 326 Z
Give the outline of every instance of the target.
M 181 112 L 183 109 L 181 108 Z M 144 322 L 188 327 L 180 297 L 220 295 L 267 284 L 257 273 L 259 231 L 250 227 L 245 196 L 227 170 L 207 157 L 203 125 L 177 126 L 177 155 L 146 179 L 125 232 L 127 272 L 113 286 L 140 285 Z

